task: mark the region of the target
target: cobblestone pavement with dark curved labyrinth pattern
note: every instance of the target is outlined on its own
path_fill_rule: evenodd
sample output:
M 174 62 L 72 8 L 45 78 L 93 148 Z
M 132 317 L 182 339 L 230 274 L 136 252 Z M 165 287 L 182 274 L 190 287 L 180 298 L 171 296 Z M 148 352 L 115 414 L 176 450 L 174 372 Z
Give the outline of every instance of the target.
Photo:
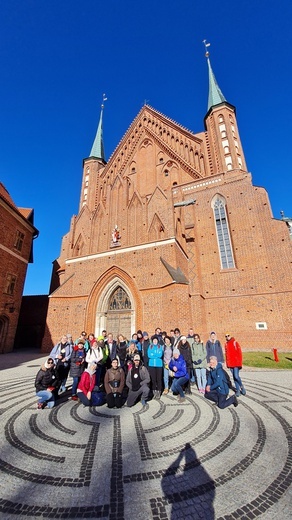
M 219 410 L 193 388 L 145 410 L 37 410 L 44 358 L 0 356 L 0 518 L 291 519 L 292 371 L 242 371 Z M 70 379 L 68 380 L 70 383 Z

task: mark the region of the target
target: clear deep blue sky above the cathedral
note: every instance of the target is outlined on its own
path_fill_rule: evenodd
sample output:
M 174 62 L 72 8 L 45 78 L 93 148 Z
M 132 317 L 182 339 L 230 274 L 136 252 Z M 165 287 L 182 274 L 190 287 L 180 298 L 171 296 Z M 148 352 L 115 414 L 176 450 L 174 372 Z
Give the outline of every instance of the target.
M 61 237 L 78 212 L 82 160 L 106 93 L 112 154 L 145 100 L 204 129 L 208 72 L 236 106 L 253 183 L 292 216 L 290 0 L 3 0 L 0 180 L 40 231 L 24 294 L 47 294 Z

